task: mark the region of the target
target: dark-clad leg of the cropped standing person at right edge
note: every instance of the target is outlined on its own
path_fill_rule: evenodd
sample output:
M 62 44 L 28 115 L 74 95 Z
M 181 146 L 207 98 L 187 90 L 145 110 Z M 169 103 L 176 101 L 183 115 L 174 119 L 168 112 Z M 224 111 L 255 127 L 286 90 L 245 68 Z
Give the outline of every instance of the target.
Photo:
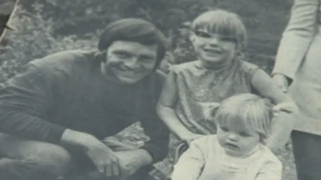
M 321 136 L 292 131 L 293 153 L 298 180 L 319 180 L 321 177 Z

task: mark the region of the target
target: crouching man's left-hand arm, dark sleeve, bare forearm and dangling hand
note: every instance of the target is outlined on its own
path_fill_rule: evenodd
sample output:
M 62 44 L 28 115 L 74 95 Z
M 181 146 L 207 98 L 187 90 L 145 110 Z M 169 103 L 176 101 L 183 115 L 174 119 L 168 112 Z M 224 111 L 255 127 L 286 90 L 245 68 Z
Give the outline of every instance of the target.
M 70 77 L 64 69 L 68 65 L 59 64 L 68 58 L 75 57 L 60 52 L 33 61 L 6 82 L 0 90 L 0 131 L 73 147 L 84 152 L 103 176 L 118 175 L 125 167 L 96 137 L 46 121 L 48 111 L 63 98 L 68 86 Z

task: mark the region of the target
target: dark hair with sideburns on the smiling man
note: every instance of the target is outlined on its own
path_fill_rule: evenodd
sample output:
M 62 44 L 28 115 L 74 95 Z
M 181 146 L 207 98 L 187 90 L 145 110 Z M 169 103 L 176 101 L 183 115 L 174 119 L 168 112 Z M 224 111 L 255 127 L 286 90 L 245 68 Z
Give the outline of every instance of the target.
M 114 41 L 130 41 L 142 45 L 157 45 L 157 61 L 155 67 L 158 67 L 165 57 L 168 43 L 165 35 L 153 24 L 136 18 L 127 18 L 110 23 L 100 36 L 98 50 L 107 50 Z

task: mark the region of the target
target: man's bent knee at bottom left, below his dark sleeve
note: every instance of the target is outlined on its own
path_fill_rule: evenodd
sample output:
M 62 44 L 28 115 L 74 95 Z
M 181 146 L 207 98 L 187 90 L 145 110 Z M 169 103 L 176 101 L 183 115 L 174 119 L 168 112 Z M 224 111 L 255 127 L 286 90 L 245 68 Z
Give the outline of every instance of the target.
M 71 157 L 68 151 L 59 145 L 2 133 L 0 138 L 0 153 L 11 159 L 2 161 L 3 169 L 6 169 L 4 166 L 7 164 L 8 167 L 15 167 L 19 171 L 20 167 L 26 167 L 28 172 L 52 176 L 60 176 L 68 169 Z

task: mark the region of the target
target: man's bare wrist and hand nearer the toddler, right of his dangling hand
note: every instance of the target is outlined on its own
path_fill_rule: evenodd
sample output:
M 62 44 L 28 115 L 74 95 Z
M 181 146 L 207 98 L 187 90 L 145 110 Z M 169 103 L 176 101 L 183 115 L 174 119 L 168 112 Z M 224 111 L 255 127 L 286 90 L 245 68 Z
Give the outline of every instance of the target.
M 152 157 L 145 149 L 118 151 L 115 154 L 125 166 L 129 175 L 135 173 L 139 168 L 152 163 Z

